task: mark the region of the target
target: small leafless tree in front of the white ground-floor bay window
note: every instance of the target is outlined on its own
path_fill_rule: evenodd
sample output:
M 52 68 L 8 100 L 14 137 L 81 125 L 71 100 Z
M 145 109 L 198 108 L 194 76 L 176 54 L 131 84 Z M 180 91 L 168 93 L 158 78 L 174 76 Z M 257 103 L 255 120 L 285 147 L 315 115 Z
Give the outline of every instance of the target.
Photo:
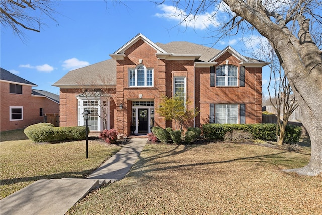
M 108 116 L 111 114 L 108 103 L 113 101 L 112 96 L 116 93 L 112 78 L 102 74 L 92 79 L 79 78 L 77 84 L 83 97 L 86 98 L 91 110 L 103 121 L 103 129 L 108 129 Z

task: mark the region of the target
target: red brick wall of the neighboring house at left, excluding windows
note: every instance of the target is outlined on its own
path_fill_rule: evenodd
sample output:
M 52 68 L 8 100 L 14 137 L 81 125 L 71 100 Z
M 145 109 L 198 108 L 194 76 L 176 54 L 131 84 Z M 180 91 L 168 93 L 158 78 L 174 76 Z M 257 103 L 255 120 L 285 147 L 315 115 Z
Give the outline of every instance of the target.
M 39 109 L 46 113 L 59 113 L 59 104 L 45 97 L 31 96 L 31 86 L 23 85 L 23 94 L 9 93 L 9 83 L 1 82 L 1 126 L 0 131 L 14 130 L 44 122 Z M 23 120 L 10 121 L 10 106 L 23 107 Z

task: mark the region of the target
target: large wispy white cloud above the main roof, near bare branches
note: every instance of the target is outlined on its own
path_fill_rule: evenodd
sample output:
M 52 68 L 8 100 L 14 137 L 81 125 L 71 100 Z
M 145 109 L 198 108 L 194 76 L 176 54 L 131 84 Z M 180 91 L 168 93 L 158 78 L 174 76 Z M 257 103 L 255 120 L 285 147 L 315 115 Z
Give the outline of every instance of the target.
M 156 13 L 155 16 L 160 18 L 166 18 L 168 20 L 174 20 L 180 25 L 184 25 L 187 27 L 191 27 L 194 29 L 204 30 L 211 26 L 218 26 L 219 22 L 217 21 L 215 16 L 212 16 L 215 12 L 199 14 L 194 17 L 193 15 L 186 15 L 184 12 L 177 7 L 169 6 L 166 4 L 159 5 L 160 10 L 163 13 Z

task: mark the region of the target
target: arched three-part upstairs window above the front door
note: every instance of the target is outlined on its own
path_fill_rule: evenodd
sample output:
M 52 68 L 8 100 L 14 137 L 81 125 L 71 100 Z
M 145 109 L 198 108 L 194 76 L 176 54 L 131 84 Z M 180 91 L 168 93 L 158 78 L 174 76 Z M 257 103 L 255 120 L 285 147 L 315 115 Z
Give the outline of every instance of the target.
M 144 65 L 138 65 L 135 69 L 129 69 L 130 87 L 152 87 L 153 69 L 146 68 Z

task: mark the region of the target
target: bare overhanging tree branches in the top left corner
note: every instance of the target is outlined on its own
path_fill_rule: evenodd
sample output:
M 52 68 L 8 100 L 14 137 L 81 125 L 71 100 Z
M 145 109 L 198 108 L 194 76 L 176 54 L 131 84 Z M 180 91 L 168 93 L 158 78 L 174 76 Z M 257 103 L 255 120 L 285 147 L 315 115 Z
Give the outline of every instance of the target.
M 18 36 L 24 37 L 23 29 L 40 32 L 41 26 L 46 25 L 44 17 L 56 21 L 55 6 L 57 1 L 51 0 L 2 0 L 0 23 L 11 28 Z

